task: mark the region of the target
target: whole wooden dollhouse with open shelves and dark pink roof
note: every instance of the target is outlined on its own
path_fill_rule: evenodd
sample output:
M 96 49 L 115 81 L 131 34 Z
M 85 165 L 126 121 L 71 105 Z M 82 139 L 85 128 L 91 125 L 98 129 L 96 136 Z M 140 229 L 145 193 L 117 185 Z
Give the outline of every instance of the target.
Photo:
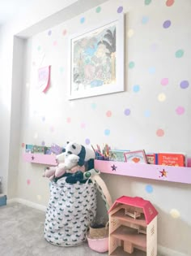
M 108 255 L 157 255 L 157 215 L 142 197 L 120 197 L 108 210 Z

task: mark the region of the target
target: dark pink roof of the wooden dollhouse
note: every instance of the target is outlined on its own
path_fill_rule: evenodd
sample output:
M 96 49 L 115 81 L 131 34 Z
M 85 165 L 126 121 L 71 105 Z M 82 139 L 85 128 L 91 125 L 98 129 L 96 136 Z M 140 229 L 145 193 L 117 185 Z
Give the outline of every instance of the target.
M 111 208 L 108 210 L 108 213 L 110 213 L 119 204 L 142 208 L 145 215 L 146 224 L 151 223 L 151 221 L 155 219 L 155 216 L 158 215 L 158 211 L 155 209 L 155 207 L 151 204 L 150 201 L 144 200 L 142 197 L 126 197 L 126 196 L 119 197 L 112 204 Z

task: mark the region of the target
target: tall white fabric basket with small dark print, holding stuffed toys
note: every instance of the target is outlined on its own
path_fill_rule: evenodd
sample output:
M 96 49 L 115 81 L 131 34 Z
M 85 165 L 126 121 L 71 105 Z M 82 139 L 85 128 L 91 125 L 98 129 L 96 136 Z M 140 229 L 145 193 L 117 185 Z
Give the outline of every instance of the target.
M 45 216 L 45 240 L 53 245 L 73 246 L 86 240 L 87 229 L 96 216 L 96 185 L 68 184 L 66 177 L 50 184 Z

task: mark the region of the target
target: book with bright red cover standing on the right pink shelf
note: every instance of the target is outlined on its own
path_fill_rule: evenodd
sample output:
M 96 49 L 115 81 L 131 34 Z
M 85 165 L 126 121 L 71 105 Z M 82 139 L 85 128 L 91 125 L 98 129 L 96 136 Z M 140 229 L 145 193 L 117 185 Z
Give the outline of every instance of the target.
M 158 164 L 185 167 L 185 154 L 158 153 Z

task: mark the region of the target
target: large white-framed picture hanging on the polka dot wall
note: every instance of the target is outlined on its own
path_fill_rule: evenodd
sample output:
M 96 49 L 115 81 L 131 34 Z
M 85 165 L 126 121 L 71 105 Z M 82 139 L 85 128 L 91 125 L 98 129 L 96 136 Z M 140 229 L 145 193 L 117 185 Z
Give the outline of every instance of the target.
M 70 37 L 68 98 L 124 91 L 124 15 Z

